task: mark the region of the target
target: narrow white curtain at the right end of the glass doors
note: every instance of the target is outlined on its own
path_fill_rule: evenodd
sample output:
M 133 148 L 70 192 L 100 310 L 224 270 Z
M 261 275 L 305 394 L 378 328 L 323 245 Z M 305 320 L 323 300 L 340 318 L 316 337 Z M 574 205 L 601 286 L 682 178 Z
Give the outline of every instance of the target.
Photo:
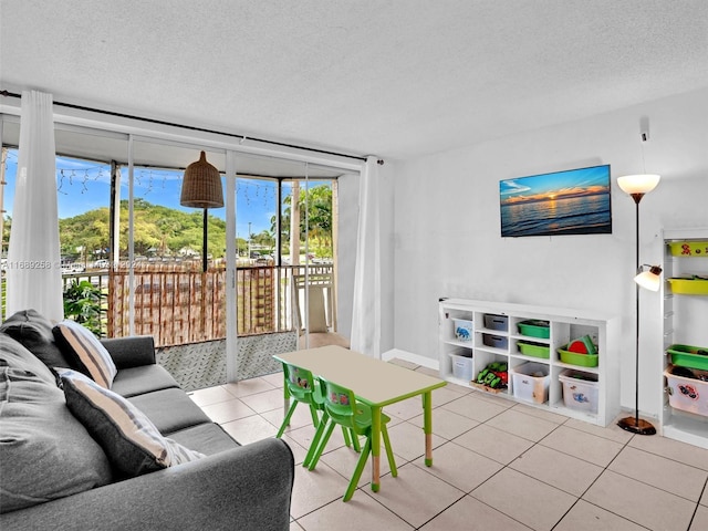
M 381 358 L 381 228 L 378 160 L 367 157 L 360 177 L 358 232 L 352 312 L 353 351 Z

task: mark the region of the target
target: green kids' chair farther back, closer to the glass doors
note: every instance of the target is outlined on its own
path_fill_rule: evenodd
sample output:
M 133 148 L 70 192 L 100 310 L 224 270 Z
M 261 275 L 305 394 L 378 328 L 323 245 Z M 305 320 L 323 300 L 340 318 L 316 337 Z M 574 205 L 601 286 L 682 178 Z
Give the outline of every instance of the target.
M 317 382 L 310 371 L 306 368 L 299 367 L 296 365 L 292 365 L 289 363 L 283 363 L 283 374 L 285 377 L 285 386 L 287 392 L 290 395 L 291 404 L 288 413 L 285 414 L 285 418 L 283 419 L 283 424 L 280 426 L 275 438 L 280 439 L 285 431 L 285 427 L 290 424 L 290 417 L 295 412 L 295 407 L 298 404 L 303 403 L 310 406 L 310 414 L 312 415 L 312 424 L 315 428 L 320 426 L 321 423 L 326 423 L 327 414 L 324 410 L 322 397 L 322 392 L 320 391 L 320 382 Z M 322 419 L 320 419 L 317 412 L 322 413 Z M 358 444 L 358 438 L 355 433 L 351 434 L 350 429 L 342 427 L 342 434 L 344 435 L 344 442 L 346 446 L 354 446 L 356 451 L 361 451 L 361 447 Z M 314 452 L 314 448 L 317 444 L 317 433 L 315 431 L 315 437 L 312 439 L 312 444 L 310 446 L 310 451 L 305 457 L 303 466 L 308 462 L 308 458 L 311 454 Z

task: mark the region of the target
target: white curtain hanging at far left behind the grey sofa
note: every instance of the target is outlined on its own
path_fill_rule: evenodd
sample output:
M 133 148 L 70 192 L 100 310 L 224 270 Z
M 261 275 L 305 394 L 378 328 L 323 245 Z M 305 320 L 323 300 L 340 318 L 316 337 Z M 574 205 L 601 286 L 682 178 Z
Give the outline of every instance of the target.
M 7 315 L 64 317 L 52 95 L 22 92 L 18 175 L 8 249 Z

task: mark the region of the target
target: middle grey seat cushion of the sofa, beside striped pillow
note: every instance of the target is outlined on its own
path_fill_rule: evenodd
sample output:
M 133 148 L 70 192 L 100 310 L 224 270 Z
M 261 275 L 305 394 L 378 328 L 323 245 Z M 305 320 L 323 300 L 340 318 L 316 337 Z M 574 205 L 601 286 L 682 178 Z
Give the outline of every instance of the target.
M 145 413 L 163 435 L 210 423 L 211 419 L 178 388 L 132 396 L 128 400 Z

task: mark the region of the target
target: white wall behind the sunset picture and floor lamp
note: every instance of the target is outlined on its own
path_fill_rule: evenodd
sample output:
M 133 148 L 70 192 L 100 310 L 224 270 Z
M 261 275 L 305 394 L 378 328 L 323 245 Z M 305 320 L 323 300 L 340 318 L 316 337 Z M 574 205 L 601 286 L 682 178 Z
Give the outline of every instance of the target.
M 644 171 L 646 118 L 646 171 L 662 183 L 642 201 L 641 256 L 658 263 L 664 227 L 708 227 L 708 88 L 399 164 L 394 346 L 437 358 L 440 296 L 608 311 L 621 316 L 622 405 L 633 408 L 635 207 L 616 177 Z M 499 180 L 598 164 L 612 165 L 612 235 L 501 238 Z M 641 409 L 656 415 L 658 295 L 642 302 Z

